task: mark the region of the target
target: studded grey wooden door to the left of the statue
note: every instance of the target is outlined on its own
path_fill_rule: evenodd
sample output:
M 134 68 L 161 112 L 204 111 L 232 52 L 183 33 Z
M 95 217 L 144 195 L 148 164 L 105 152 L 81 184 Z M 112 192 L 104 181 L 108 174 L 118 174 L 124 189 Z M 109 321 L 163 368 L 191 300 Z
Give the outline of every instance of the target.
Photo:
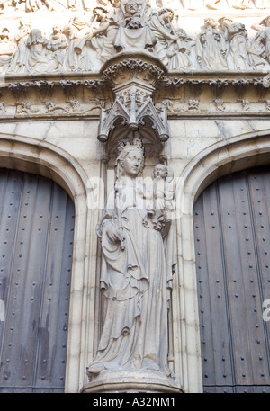
M 0 199 L 0 392 L 63 392 L 74 204 L 5 169 Z

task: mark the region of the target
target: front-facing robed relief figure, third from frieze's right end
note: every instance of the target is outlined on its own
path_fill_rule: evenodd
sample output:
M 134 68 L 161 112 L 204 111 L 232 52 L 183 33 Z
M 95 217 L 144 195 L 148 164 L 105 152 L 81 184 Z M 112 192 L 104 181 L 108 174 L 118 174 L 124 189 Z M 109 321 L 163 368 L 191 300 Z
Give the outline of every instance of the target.
M 197 60 L 202 69 L 226 70 L 226 42 L 218 30 L 218 22 L 212 18 L 204 19 L 204 26 L 196 39 Z

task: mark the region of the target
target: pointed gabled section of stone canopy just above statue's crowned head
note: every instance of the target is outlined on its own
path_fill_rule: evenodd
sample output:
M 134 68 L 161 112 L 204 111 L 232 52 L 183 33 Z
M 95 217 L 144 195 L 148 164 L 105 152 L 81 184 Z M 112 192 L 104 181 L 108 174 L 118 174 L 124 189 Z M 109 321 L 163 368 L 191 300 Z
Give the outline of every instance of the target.
M 157 109 L 152 100 L 153 88 L 131 81 L 114 89 L 114 103 L 101 110 L 98 139 L 107 141 L 109 133 L 115 128 L 115 122 L 127 125 L 129 130 L 136 131 L 148 119 L 152 128 L 157 130 L 160 141 L 169 138 L 166 102 Z

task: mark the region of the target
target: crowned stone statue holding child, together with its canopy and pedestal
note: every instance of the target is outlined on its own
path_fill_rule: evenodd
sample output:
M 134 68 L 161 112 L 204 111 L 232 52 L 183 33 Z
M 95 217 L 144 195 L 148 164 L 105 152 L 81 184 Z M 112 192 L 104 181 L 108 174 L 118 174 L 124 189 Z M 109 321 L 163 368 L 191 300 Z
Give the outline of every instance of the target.
M 97 138 L 103 151 L 103 180 L 109 188 L 110 170 L 113 183 L 111 190 L 107 190 L 107 204 L 98 228 L 102 264 L 97 282 L 101 284 L 102 293 L 98 293 L 96 301 L 103 306 L 98 319 L 103 330 L 94 360 L 87 366 L 89 383 L 82 389 L 84 393 L 181 392 L 174 376 L 173 321 L 172 311 L 168 310 L 171 308 L 175 267 L 175 230 L 173 223 L 166 220 L 165 211 L 160 213 L 154 207 L 148 210 L 146 204 L 154 197 L 143 180 L 152 172 L 154 183 L 157 166 L 165 172 L 164 177 L 157 178 L 158 183 L 169 187 L 166 181 L 169 174 L 166 165 L 169 140 L 166 102 L 154 103 L 157 81 L 166 70 L 155 63 L 144 56 L 136 59 L 122 56 L 103 70 L 103 78 L 112 84 L 112 102 L 103 103 Z M 135 162 L 135 172 L 133 168 L 131 174 L 136 177 L 130 176 L 126 158 L 128 163 Z M 136 168 L 138 166 L 141 168 Z M 169 178 L 171 181 L 171 176 Z M 131 200 L 132 192 L 135 197 Z M 146 202 L 142 204 L 141 200 Z M 122 206 L 121 201 L 128 203 Z M 119 252 L 120 255 L 115 260 L 114 251 L 107 253 L 110 246 L 105 244 L 111 241 L 112 246 L 112 237 L 107 231 L 111 224 L 113 227 L 122 224 L 121 243 L 114 245 L 116 254 Z M 153 258 L 156 254 L 159 264 Z M 123 265 L 116 267 L 108 263 L 111 257 L 116 265 L 121 262 Z M 133 258 L 138 259 L 136 264 Z M 115 273 L 120 276 L 114 284 Z M 120 278 L 123 284 L 119 283 Z M 151 296 L 155 297 L 152 299 Z M 154 299 L 158 296 L 162 297 L 154 308 Z

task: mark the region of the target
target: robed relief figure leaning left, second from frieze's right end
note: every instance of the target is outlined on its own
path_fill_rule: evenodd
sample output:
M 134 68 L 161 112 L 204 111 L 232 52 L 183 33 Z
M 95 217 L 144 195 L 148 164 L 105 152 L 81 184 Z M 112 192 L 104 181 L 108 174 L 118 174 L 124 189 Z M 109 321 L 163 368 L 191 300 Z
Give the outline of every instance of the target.
M 250 69 L 247 54 L 247 30 L 245 24 L 234 22 L 230 17 L 222 17 L 220 27 L 225 40 L 229 41 L 229 52 L 236 70 Z

